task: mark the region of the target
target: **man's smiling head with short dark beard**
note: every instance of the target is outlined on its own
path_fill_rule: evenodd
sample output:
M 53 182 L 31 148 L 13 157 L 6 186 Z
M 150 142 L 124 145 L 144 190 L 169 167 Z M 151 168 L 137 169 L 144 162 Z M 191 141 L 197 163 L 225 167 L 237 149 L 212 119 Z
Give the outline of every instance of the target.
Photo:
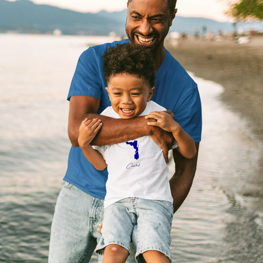
M 157 51 L 163 46 L 174 16 L 167 0 L 132 0 L 127 9 L 126 34 L 132 43 Z

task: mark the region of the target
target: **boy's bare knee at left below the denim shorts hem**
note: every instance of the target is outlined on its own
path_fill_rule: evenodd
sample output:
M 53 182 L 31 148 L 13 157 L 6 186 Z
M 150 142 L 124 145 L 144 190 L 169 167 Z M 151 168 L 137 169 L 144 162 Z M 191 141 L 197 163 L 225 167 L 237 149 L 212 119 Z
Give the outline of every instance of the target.
M 124 247 L 111 244 L 105 247 L 102 263 L 124 263 L 128 255 L 128 250 Z

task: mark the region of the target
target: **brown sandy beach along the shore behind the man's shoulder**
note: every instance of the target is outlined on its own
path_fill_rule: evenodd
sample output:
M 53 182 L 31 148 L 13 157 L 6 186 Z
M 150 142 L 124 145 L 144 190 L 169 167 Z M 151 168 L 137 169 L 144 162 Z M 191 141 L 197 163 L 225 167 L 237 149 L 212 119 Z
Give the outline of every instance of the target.
M 182 66 L 198 77 L 221 84 L 226 107 L 248 121 L 255 137 L 263 142 L 263 36 L 249 43 L 188 38 L 167 40 L 166 48 Z M 263 198 L 263 153 L 259 171 L 249 175 L 245 196 Z

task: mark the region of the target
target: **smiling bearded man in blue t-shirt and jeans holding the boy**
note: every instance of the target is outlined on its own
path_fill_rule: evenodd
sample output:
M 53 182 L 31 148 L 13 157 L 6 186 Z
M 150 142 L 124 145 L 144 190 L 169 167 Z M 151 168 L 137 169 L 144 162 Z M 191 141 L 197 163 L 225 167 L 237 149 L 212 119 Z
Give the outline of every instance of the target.
M 194 139 L 198 152 L 201 140 L 201 104 L 196 83 L 181 65 L 165 50 L 163 43 L 175 18 L 176 0 L 128 0 L 126 34 L 130 44 L 149 48 L 156 67 L 155 92 L 152 100 L 174 113 L 175 120 Z M 72 142 L 66 184 L 61 190 L 51 228 L 49 262 L 89 262 L 100 234 L 103 199 L 106 194 L 107 169 L 98 172 L 78 147 L 79 126 L 85 117 L 98 117 L 110 106 L 103 76 L 105 51 L 120 42 L 90 47 L 77 63 L 70 87 L 68 132 Z M 173 141 L 171 134 L 148 126 L 144 117 L 129 120 L 99 116 L 103 126 L 94 138 L 94 145 L 126 142 L 148 135 L 162 149 L 166 161 Z M 127 133 L 127 127 L 129 132 Z M 196 169 L 197 154 L 184 158 L 173 150 L 176 172 L 170 180 L 174 212 L 188 195 Z

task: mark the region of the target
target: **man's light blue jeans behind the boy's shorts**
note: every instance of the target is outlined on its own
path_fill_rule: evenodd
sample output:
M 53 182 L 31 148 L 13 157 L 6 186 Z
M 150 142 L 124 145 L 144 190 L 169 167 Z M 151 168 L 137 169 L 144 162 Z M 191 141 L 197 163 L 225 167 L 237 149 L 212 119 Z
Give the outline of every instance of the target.
M 101 234 L 104 200 L 65 183 L 55 207 L 49 244 L 49 263 L 88 263 Z M 135 251 L 126 261 L 136 263 Z M 102 256 L 99 256 L 102 262 Z

